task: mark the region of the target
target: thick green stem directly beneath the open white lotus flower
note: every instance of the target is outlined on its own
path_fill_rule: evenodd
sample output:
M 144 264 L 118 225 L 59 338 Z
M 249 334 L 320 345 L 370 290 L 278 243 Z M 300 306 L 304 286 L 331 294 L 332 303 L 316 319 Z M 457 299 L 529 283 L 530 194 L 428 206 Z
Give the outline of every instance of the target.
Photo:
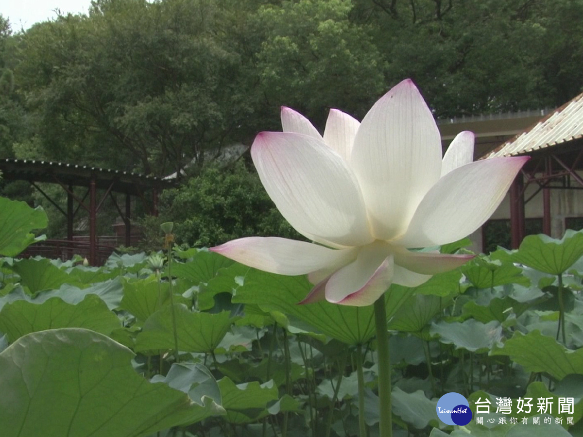
M 389 355 L 387 308 L 385 308 L 384 295 L 374 302 L 374 322 L 377 329 L 378 397 L 380 407 L 379 436 L 392 437 L 391 357 Z

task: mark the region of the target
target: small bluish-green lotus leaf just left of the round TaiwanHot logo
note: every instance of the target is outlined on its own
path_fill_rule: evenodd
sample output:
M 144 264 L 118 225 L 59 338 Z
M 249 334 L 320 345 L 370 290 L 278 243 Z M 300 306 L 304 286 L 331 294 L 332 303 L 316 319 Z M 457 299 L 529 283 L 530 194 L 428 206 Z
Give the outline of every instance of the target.
M 437 417 L 437 400 L 427 399 L 423 390 L 405 393 L 395 387 L 392 391 L 392 407 L 394 414 L 417 429 L 423 429 L 429 424 L 442 424 Z

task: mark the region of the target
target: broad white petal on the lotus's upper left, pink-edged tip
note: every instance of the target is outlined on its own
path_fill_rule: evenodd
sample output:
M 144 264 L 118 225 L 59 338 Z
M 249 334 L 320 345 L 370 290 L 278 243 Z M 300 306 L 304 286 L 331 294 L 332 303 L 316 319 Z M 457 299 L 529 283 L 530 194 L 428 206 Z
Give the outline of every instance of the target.
M 300 234 L 337 247 L 373 241 L 358 182 L 323 140 L 263 132 L 251 157 L 269 197 Z

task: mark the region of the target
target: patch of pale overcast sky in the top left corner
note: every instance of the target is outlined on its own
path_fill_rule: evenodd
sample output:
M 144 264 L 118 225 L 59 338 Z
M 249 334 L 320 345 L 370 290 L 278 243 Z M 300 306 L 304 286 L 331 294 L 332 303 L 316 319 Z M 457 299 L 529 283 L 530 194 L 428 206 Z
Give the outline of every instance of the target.
M 87 13 L 91 0 L 0 0 L 0 13 L 10 20 L 12 31 L 29 29 L 34 23 L 54 19 L 61 13 Z

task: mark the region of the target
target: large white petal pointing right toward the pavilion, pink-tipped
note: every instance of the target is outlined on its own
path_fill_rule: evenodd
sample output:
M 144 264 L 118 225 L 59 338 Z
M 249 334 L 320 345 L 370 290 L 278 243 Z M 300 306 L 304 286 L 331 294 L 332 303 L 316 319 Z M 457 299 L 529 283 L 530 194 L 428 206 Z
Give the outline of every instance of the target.
M 400 246 L 447 244 L 479 228 L 504 199 L 529 157 L 491 158 L 458 167 L 423 198 Z

